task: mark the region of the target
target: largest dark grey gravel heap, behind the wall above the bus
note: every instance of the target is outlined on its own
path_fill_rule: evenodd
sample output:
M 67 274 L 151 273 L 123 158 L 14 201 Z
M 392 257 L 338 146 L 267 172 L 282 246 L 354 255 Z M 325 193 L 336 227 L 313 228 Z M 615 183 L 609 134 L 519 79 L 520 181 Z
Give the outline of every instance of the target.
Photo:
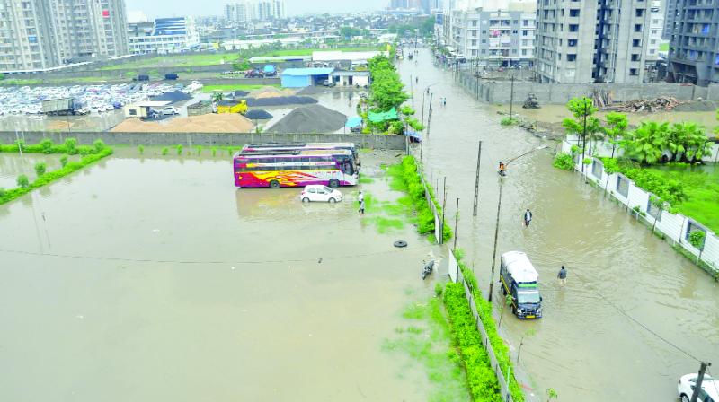
M 269 133 L 333 133 L 344 127 L 347 116 L 321 105 L 303 106 L 267 130 Z

